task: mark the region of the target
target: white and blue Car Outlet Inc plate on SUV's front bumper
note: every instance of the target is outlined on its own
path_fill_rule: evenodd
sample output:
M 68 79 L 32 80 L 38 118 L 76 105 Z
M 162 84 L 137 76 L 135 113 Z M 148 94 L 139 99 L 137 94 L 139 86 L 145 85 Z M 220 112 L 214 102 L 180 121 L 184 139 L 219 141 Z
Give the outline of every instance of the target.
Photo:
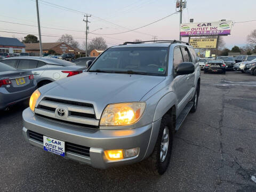
M 65 141 L 44 136 L 44 150 L 65 156 Z

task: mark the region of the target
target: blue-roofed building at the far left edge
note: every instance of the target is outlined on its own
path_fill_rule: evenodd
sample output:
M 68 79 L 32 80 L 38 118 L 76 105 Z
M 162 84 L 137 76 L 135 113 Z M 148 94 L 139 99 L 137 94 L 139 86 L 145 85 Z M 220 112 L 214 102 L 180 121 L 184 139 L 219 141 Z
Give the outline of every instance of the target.
M 0 53 L 21 53 L 25 52 L 25 44 L 17 38 L 0 37 Z

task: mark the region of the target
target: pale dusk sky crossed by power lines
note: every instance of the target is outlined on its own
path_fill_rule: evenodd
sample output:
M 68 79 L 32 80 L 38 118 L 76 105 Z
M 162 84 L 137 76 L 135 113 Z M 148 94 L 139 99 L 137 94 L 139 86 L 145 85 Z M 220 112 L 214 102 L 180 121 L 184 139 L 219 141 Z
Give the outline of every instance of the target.
M 46 2 L 46 3 L 45 3 Z M 127 31 L 129 29 L 144 26 L 150 22 L 164 18 L 175 12 L 175 0 L 39 0 L 41 16 L 41 26 L 51 28 L 70 29 L 76 31 L 65 31 L 42 28 L 42 35 L 61 36 L 71 34 L 79 37 L 76 40 L 82 43 L 85 38 L 85 22 L 83 13 L 66 11 L 54 7 L 57 4 L 69 7 L 79 12 L 92 14 L 89 18 L 90 31 L 102 28 L 93 33 L 112 34 Z M 187 9 L 183 10 L 182 22 L 189 22 L 189 18 L 194 18 L 194 22 L 219 21 L 221 19 L 232 20 L 234 22 L 248 21 L 256 19 L 255 0 L 214 0 L 199 1 L 187 0 Z M 0 31 L 12 31 L 15 33 L 38 34 L 36 20 L 36 3 L 34 0 L 9 0 L 2 1 L 0 8 L 0 20 L 17 22 L 26 25 L 0 22 Z M 246 36 L 256 29 L 256 21 L 235 23 L 231 35 L 224 37 L 228 48 L 234 45 L 242 46 L 246 44 Z M 134 31 L 118 35 L 104 35 L 109 46 L 120 44 L 134 39 L 151 40 L 153 36 L 158 39 L 179 39 L 179 13 L 161 20 L 153 25 Z M 11 34 L 0 32 L 3 37 L 23 37 L 22 34 Z M 89 38 L 99 35 L 89 34 Z M 56 42 L 58 37 L 42 37 L 42 42 Z M 183 38 L 187 41 L 187 38 Z

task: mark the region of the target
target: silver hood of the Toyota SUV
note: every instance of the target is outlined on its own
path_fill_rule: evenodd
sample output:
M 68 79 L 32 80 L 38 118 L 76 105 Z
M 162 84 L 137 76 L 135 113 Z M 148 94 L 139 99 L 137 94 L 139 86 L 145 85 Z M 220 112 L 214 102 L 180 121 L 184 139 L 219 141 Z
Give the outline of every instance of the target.
M 43 97 L 92 103 L 98 112 L 109 103 L 140 101 L 164 76 L 82 73 L 39 89 Z

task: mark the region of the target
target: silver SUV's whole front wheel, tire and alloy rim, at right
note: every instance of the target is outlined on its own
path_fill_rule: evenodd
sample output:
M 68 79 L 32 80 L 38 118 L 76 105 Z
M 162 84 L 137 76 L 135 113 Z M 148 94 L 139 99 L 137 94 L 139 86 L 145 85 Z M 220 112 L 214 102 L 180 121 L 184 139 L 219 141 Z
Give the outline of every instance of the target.
M 152 171 L 155 175 L 164 174 L 169 166 L 173 141 L 172 126 L 171 116 L 164 115 L 153 153 L 143 162 L 147 166 L 147 170 Z

